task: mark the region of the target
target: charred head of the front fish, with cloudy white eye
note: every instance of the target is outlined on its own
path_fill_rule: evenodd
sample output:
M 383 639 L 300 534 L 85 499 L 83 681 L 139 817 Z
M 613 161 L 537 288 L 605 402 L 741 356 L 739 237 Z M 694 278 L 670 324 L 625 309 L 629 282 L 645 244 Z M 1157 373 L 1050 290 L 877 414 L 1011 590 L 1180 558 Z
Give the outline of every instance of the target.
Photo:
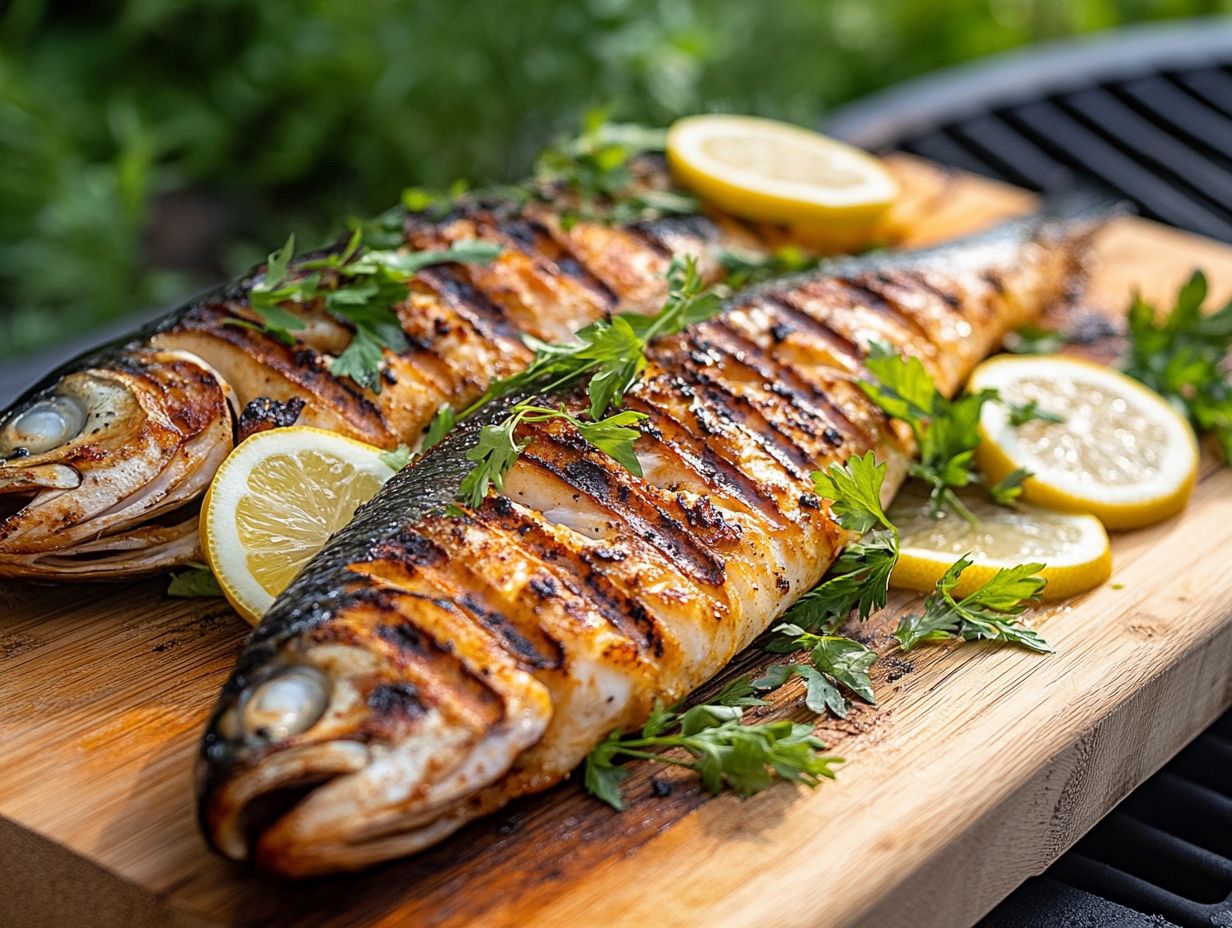
M 428 596 L 293 584 L 202 741 L 208 842 L 308 876 L 405 855 L 503 805 L 501 778 L 542 737 L 551 698 L 464 626 Z

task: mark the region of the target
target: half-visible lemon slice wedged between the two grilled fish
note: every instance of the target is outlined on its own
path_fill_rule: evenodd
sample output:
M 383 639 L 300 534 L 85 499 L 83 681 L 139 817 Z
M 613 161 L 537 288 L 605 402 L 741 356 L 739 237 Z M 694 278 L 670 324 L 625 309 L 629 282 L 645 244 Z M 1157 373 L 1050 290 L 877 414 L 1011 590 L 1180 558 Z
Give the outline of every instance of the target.
M 322 429 L 270 429 L 223 461 L 202 502 L 201 547 L 254 625 L 393 470 L 381 449 Z

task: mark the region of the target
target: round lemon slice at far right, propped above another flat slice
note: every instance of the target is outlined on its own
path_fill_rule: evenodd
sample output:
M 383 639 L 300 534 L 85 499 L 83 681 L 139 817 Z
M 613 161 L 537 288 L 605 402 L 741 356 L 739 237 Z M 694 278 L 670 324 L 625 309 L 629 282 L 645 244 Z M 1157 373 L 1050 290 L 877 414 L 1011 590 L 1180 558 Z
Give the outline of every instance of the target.
M 1034 474 L 1023 498 L 1090 513 L 1109 529 L 1135 529 L 1179 513 L 1198 474 L 1189 423 L 1158 393 L 1109 367 L 1058 355 L 995 357 L 976 368 L 971 389 L 1035 401 L 1063 423 L 1015 428 L 999 403 L 979 418 L 977 461 L 998 481 L 1015 467 Z

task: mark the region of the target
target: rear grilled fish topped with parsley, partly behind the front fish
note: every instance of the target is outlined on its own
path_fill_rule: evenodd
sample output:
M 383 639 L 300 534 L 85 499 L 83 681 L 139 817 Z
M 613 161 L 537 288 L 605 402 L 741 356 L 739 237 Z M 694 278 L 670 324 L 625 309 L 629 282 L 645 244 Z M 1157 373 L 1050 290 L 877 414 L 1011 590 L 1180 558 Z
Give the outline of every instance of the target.
M 653 160 L 638 171 L 644 187 L 668 184 Z M 249 431 L 298 421 L 414 445 L 442 403 L 525 366 L 524 335 L 559 341 L 605 313 L 657 311 L 674 256 L 696 256 L 713 281 L 724 250 L 766 253 L 765 233 L 722 217 L 617 226 L 565 221 L 572 206 L 558 191 L 407 214 L 407 250 L 501 251 L 414 277 L 395 307 L 409 348 L 384 351 L 379 391 L 330 373 L 354 329 L 319 301 L 290 306 L 302 323 L 291 345 L 235 324 L 257 320 L 261 270 L 55 371 L 0 413 L 0 577 L 115 578 L 197 560 L 201 495 Z

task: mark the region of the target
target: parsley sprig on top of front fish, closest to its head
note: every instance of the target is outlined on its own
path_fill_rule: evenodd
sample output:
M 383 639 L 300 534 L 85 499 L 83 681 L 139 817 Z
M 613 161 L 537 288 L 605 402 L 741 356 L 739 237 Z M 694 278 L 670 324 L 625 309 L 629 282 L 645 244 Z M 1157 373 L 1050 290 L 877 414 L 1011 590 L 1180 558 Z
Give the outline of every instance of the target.
M 471 505 L 479 505 L 487 495 L 489 486 L 494 487 L 498 493 L 503 490 L 505 474 L 529 444 L 529 441 L 519 441 L 515 438 L 517 426 L 524 423 L 540 423 L 548 419 L 562 419 L 569 423 L 591 445 L 614 457 L 628 471 L 642 476 L 642 467 L 633 454 L 633 442 L 641 438 L 642 433 L 630 426 L 644 418 L 644 413 L 625 409 L 599 421 L 585 421 L 570 414 L 563 405 L 551 409 L 535 405 L 530 401 L 517 403 L 499 423 L 484 425 L 479 430 L 478 442 L 466 455 L 467 460 L 474 463 L 474 467 L 462 479 L 458 498 Z

